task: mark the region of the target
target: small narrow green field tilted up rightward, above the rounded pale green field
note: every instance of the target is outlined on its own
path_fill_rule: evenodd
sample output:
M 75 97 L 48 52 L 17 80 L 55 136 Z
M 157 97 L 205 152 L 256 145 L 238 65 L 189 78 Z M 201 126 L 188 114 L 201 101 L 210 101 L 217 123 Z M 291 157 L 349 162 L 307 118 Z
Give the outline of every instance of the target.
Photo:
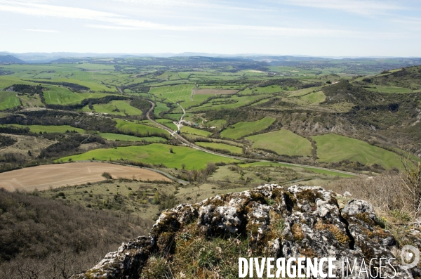
M 234 128 L 228 127 L 221 132 L 223 138 L 238 139 L 248 134 L 253 134 L 258 131 L 266 129 L 270 124 L 275 121 L 272 117 L 265 117 L 255 122 L 238 122 L 232 125 Z

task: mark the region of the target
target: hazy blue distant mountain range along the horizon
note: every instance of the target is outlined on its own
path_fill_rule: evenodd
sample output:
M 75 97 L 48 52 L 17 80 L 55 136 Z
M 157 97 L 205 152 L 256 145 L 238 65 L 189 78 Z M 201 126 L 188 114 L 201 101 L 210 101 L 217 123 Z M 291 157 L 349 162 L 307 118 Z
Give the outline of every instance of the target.
M 326 56 L 276 56 L 262 53 L 243 53 L 243 54 L 220 54 L 220 53 L 72 53 L 72 52 L 53 52 L 53 53 L 11 53 L 8 51 L 0 52 L 0 63 L 51 63 L 62 58 L 136 58 L 136 57 L 189 57 L 189 56 L 207 56 L 216 58 L 251 58 L 253 60 L 323 60 L 323 59 L 344 59 L 344 58 L 396 58 L 396 57 L 326 57 Z

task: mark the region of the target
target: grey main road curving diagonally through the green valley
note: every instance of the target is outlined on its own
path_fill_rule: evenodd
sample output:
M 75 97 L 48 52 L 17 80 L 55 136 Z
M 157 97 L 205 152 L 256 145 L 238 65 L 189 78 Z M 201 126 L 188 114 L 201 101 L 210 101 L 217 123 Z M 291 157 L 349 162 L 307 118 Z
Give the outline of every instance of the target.
M 314 166 L 309 166 L 309 165 L 306 165 L 306 164 L 293 164 L 293 163 L 288 163 L 288 162 L 279 162 L 279 161 L 274 162 L 274 161 L 269 161 L 269 160 L 248 159 L 248 158 L 243 158 L 243 157 L 238 157 L 238 156 L 226 155 L 226 154 L 218 153 L 218 152 L 215 152 L 215 151 L 210 151 L 206 148 L 202 148 L 199 145 L 195 145 L 194 143 L 191 143 L 191 142 L 187 141 L 187 139 L 185 139 L 182 136 L 180 136 L 179 134 L 177 134 L 176 131 L 173 131 L 170 128 L 168 128 L 167 126 L 164 126 L 163 124 L 160 124 L 160 123 L 156 122 L 154 119 L 152 119 L 149 116 L 149 113 L 154 110 L 155 104 L 154 104 L 154 102 L 152 102 L 150 100 L 148 100 L 148 101 L 149 101 L 149 103 L 152 104 L 152 107 L 149 108 L 149 110 L 147 111 L 147 114 L 146 114 L 147 119 L 151 122 L 154 122 L 154 124 L 159 126 L 161 129 L 164 129 L 164 130 L 168 131 L 168 133 L 170 133 L 171 136 L 174 136 L 175 138 L 178 138 L 178 140 L 180 140 L 184 145 L 187 145 L 187 146 L 189 146 L 191 148 L 194 148 L 196 150 L 201 150 L 201 151 L 206 152 L 206 153 L 210 153 L 210 154 L 214 154 L 214 155 L 218 155 L 218 156 L 222 156 L 222 157 L 227 157 L 227 158 L 232 158 L 232 159 L 236 159 L 236 160 L 241 160 L 241 161 L 249 160 L 249 161 L 254 161 L 254 162 L 282 163 L 282 164 L 288 164 L 291 167 L 305 167 L 305 168 L 312 168 L 312 169 L 320 169 L 320 170 L 324 170 L 324 171 L 333 171 L 333 172 L 336 172 L 338 174 L 348 174 L 348 175 L 352 175 L 352 176 L 361 175 L 361 174 L 355 174 L 355 173 L 349 172 L 349 171 L 340 171 L 338 169 L 327 169 L 327 168 L 324 168 L 324 167 L 314 167 Z M 180 104 L 178 104 L 178 105 L 180 105 Z M 180 105 L 180 108 L 182 108 L 181 105 Z M 182 110 L 183 110 L 183 112 L 185 112 L 184 108 L 182 108 Z

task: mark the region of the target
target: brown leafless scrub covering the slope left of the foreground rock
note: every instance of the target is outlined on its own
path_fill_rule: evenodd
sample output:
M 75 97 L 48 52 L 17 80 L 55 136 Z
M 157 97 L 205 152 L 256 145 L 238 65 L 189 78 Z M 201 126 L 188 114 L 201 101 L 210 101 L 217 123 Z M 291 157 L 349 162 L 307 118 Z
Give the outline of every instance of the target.
M 59 199 L 65 195 L 57 193 Z M 152 221 L 0 190 L 0 278 L 69 278 Z

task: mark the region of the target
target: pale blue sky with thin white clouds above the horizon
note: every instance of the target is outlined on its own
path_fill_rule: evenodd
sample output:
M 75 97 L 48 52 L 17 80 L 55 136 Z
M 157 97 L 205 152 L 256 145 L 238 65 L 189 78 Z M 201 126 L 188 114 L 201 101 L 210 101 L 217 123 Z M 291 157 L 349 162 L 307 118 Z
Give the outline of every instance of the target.
M 0 51 L 421 57 L 421 0 L 0 0 Z

